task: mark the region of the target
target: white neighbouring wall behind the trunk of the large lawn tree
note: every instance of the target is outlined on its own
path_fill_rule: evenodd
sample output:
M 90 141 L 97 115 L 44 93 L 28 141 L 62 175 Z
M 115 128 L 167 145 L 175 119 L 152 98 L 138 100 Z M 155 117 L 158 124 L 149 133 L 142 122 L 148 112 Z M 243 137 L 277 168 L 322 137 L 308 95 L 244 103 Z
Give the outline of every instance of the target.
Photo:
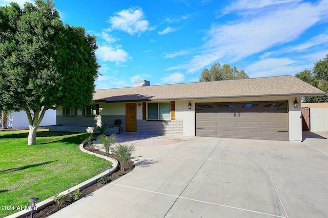
M 56 110 L 48 109 L 39 126 L 51 126 L 51 125 L 56 125 Z M 8 128 L 28 128 L 29 120 L 27 118 L 26 112 L 9 111 L 8 123 L 6 126 Z

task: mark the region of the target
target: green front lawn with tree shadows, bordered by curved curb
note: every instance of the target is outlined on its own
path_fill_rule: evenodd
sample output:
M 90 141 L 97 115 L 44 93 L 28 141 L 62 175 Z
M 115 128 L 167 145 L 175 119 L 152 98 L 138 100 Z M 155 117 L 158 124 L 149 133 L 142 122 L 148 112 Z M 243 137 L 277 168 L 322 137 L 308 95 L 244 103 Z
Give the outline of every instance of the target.
M 38 130 L 34 146 L 27 136 L 28 130 L 0 132 L 0 217 L 17 212 L 3 206 L 43 201 L 108 168 L 108 161 L 79 150 L 89 134 Z

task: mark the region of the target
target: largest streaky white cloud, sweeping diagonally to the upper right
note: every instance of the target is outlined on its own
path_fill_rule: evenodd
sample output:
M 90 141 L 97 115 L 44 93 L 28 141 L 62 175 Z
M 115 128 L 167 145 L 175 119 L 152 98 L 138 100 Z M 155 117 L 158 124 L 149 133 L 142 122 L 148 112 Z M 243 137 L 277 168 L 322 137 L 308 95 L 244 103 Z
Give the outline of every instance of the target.
M 287 1 L 288 2 L 288 1 Z M 328 4 L 309 2 L 272 8 L 270 12 L 242 17 L 225 25 L 212 25 L 200 53 L 189 62 L 167 70 L 196 72 L 219 59 L 227 63 L 263 52 L 275 45 L 291 42 L 319 21 L 326 21 Z

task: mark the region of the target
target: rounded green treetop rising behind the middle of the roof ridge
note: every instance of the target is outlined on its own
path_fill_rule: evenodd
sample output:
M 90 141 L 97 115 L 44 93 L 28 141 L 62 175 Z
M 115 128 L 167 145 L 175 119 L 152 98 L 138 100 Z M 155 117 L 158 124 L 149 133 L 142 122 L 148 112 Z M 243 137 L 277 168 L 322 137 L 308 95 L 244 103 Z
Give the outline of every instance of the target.
M 247 79 L 249 76 L 243 69 L 238 67 L 231 67 L 229 64 L 215 63 L 210 70 L 205 68 L 200 75 L 199 82 L 209 82 L 218 80 L 238 80 Z

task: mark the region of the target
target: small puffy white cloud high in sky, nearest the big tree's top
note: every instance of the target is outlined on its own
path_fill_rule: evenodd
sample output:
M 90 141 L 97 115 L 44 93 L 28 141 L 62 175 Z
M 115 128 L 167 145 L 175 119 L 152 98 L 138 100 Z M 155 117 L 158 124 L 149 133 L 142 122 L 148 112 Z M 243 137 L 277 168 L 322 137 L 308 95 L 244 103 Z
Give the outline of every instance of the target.
M 116 13 L 116 16 L 109 18 L 112 29 L 121 30 L 131 35 L 141 34 L 151 30 L 149 22 L 145 19 L 141 8 L 129 8 Z

